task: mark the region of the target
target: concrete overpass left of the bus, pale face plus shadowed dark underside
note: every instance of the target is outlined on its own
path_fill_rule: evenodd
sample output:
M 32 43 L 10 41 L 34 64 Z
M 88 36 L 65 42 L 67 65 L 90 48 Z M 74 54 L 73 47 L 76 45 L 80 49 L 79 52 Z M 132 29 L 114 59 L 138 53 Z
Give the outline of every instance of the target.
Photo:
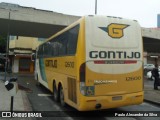
M 79 18 L 32 7 L 0 3 L 0 33 L 7 34 L 9 28 L 12 35 L 48 38 Z

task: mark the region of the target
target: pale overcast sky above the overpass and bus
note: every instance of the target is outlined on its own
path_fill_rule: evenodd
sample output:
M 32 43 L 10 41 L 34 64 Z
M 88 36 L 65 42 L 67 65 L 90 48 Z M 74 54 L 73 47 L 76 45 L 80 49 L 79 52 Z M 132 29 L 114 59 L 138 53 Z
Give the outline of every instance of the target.
M 95 0 L 0 0 L 36 9 L 68 15 L 95 14 Z M 160 0 L 97 0 L 97 15 L 116 16 L 137 20 L 142 27 L 157 27 Z

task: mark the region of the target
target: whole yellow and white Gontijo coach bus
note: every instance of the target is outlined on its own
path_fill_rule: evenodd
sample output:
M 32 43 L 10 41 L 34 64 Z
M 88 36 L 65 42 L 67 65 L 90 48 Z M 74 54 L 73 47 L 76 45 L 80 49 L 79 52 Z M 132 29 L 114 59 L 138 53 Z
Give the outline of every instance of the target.
M 85 16 L 37 48 L 36 79 L 79 111 L 143 102 L 143 45 L 135 20 Z

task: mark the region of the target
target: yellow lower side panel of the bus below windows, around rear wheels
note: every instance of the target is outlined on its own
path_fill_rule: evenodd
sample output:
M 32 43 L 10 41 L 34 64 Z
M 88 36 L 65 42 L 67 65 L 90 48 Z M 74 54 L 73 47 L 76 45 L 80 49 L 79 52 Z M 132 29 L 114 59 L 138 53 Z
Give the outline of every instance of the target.
M 50 91 L 53 91 L 53 81 L 61 84 L 64 89 L 65 101 L 77 104 L 77 61 L 75 56 L 55 57 L 45 59 L 46 78 Z

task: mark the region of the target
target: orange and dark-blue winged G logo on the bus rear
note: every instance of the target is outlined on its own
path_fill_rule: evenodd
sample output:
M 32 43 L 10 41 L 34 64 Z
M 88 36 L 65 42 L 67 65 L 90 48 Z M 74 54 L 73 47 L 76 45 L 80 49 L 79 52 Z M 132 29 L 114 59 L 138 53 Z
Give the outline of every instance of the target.
M 106 31 L 108 35 L 112 38 L 121 38 L 123 37 L 123 30 L 127 28 L 129 25 L 125 24 L 117 24 L 111 23 L 108 27 L 100 27 L 102 30 Z

